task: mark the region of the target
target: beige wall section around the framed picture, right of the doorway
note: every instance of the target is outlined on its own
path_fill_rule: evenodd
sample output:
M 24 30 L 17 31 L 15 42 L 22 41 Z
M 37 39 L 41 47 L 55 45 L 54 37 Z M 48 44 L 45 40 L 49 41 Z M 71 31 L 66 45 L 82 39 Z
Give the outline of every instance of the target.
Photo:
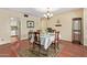
M 33 28 L 28 28 L 26 29 L 26 21 L 34 21 L 34 29 Z M 28 32 L 29 30 L 40 30 L 40 18 L 34 18 L 34 17 L 29 17 L 29 18 L 23 18 L 21 19 L 21 39 L 28 39 Z

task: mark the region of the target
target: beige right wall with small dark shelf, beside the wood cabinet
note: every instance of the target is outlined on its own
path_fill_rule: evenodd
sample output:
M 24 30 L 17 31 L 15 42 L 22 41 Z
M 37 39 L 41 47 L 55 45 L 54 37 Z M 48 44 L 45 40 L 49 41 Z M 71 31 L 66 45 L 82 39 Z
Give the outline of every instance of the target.
M 72 19 L 73 18 L 81 18 L 83 9 L 77 9 L 74 11 L 64 12 L 61 14 L 54 15 L 51 20 L 47 21 L 47 26 L 51 26 L 57 31 L 61 31 L 61 39 L 66 41 L 72 41 Z M 62 26 L 55 26 L 57 20 L 62 23 Z M 42 20 L 42 22 L 46 22 L 46 20 Z M 45 26 L 45 25 L 43 25 Z

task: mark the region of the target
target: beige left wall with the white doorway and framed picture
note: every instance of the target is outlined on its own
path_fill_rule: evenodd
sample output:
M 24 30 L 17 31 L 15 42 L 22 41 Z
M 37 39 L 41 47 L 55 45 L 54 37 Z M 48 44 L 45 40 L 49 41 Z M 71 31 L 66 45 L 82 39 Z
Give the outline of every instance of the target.
M 11 36 L 11 28 L 10 28 L 10 18 L 19 18 L 21 21 L 21 39 L 28 37 L 28 31 L 30 29 L 26 28 L 26 21 L 33 20 L 35 22 L 35 29 L 40 29 L 39 18 L 34 18 L 29 15 L 29 18 L 24 18 L 23 13 L 14 12 L 11 10 L 0 9 L 0 44 L 6 44 L 10 42 Z M 35 30 L 33 29 L 33 30 Z

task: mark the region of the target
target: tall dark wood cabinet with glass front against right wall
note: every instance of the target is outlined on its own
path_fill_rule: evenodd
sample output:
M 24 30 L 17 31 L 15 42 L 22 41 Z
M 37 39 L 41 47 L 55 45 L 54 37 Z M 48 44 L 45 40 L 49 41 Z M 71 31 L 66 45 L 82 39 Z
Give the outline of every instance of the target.
M 81 18 L 74 18 L 72 28 L 73 43 L 81 44 Z

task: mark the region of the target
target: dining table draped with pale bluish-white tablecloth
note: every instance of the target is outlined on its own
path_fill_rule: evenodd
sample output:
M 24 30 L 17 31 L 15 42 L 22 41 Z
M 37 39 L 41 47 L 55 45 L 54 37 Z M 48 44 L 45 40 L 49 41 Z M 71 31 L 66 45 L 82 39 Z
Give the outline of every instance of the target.
M 61 34 L 59 34 L 61 36 Z M 41 34 L 40 35 L 40 40 L 41 40 L 41 45 L 44 46 L 45 50 L 48 48 L 48 46 L 53 43 L 53 41 L 55 40 L 55 34 L 54 33 L 46 33 L 46 34 Z M 34 37 L 31 39 L 31 42 L 34 41 Z

